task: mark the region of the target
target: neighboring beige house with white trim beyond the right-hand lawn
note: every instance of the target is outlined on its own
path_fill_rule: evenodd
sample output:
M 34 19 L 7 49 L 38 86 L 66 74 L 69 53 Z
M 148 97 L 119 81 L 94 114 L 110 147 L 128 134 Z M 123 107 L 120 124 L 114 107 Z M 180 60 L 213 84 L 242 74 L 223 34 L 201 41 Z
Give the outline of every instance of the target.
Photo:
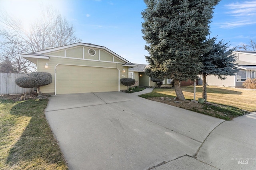
M 242 84 L 248 78 L 256 78 L 256 51 L 233 51 L 236 55 L 239 72 L 236 76 L 227 76 L 225 80 L 218 77 L 207 76 L 206 83 L 210 86 L 243 87 Z

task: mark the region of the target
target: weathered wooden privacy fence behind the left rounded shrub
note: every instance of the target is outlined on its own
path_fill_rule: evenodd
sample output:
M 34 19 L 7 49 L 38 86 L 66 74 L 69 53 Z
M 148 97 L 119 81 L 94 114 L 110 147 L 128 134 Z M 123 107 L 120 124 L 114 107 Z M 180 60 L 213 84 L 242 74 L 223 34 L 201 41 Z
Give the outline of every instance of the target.
M 22 88 L 17 86 L 15 79 L 22 75 L 23 74 L 20 73 L 0 72 L 0 95 L 34 92 L 34 88 Z

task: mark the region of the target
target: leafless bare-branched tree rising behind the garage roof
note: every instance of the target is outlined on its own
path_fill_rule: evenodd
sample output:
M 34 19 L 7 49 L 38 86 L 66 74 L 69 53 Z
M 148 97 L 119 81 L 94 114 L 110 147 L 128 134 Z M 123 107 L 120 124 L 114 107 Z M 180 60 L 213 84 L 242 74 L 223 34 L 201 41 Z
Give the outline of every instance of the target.
M 10 17 L 7 13 L 0 15 L 0 63 L 8 60 L 17 72 L 33 72 L 35 64 L 19 56 L 32 53 L 46 47 L 60 47 L 82 41 L 74 33 L 73 25 L 52 7 L 42 9 L 40 18 L 24 28 L 22 21 Z

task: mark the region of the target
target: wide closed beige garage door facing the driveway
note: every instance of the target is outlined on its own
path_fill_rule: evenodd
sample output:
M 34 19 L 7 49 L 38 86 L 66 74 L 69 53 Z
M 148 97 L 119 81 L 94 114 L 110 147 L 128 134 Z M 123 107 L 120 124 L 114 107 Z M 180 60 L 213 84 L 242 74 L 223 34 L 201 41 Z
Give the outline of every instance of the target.
M 116 68 L 58 65 L 56 94 L 114 92 L 118 80 Z

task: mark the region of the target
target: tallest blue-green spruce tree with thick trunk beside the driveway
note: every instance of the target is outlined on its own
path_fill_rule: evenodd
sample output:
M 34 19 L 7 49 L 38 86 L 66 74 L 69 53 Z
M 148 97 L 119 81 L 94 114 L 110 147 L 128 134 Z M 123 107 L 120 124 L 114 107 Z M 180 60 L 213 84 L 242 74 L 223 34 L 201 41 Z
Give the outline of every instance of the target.
M 148 45 L 150 67 L 146 74 L 172 78 L 177 98 L 185 100 L 180 81 L 195 79 L 202 65 L 199 55 L 208 47 L 203 43 L 209 34 L 213 7 L 219 0 L 144 0 L 143 39 Z

